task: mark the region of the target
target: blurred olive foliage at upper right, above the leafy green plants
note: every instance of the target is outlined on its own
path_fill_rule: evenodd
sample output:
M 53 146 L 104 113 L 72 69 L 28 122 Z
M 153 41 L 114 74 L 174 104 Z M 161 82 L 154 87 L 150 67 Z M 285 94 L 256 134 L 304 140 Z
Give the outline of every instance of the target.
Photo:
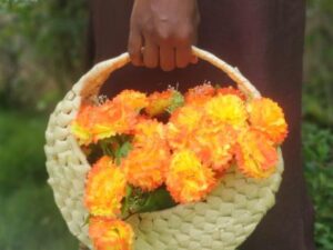
M 304 118 L 333 127 L 333 1 L 309 0 L 306 18 Z

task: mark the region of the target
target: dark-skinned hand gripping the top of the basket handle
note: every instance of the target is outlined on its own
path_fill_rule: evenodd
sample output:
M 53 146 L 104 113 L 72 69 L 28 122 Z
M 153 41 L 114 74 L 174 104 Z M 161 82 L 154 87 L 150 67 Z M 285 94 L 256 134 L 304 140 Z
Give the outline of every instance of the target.
M 128 50 L 134 66 L 164 71 L 185 68 L 200 14 L 196 0 L 134 0 Z

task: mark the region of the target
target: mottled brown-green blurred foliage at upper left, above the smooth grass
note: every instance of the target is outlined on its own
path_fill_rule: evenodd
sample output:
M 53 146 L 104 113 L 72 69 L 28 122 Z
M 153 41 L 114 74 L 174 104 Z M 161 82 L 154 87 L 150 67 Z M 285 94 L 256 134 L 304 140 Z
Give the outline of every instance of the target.
M 82 73 L 87 20 L 87 1 L 1 0 L 0 106 L 52 106 Z

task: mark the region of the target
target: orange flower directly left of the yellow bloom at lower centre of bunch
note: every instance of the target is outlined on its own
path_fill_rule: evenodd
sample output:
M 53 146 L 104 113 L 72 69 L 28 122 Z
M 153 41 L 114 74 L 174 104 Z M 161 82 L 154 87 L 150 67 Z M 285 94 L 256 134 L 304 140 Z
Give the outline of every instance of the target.
M 131 150 L 121 161 L 121 168 L 129 183 L 143 191 L 152 191 L 164 182 L 169 158 L 170 151 L 165 144 L 148 144 Z

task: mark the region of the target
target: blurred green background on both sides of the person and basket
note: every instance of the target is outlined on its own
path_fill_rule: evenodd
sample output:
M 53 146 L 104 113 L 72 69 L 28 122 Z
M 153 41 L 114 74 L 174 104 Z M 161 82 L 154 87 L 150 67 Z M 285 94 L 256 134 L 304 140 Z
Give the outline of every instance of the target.
M 309 0 L 303 164 L 319 250 L 333 249 L 333 1 Z M 77 250 L 47 186 L 44 129 L 84 72 L 88 6 L 0 0 L 0 249 Z

